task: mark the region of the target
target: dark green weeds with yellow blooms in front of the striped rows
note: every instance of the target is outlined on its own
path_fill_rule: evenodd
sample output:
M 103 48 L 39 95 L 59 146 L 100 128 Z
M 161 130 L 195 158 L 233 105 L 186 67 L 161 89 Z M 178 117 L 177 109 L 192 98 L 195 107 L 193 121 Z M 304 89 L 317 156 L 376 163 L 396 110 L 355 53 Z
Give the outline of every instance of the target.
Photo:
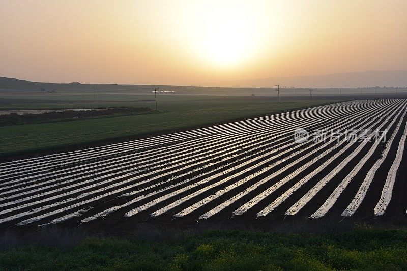
M 345 233 L 210 231 L 166 240 L 86 238 L 69 248 L 0 251 L 3 269 L 330 270 L 407 269 L 407 230 Z

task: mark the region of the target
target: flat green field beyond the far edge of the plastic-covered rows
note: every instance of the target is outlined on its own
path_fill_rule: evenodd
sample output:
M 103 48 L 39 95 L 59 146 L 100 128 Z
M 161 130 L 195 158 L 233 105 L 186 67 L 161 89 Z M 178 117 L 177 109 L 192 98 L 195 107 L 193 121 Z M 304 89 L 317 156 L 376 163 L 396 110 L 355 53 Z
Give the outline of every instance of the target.
M 111 106 L 150 107 L 154 102 L 137 102 L 126 99 L 111 101 L 104 97 L 90 102 L 70 100 L 3 99 L 0 107 L 6 108 L 90 108 Z M 117 98 L 117 97 L 116 97 Z M 151 96 L 150 96 L 151 98 Z M 0 157 L 74 149 L 111 142 L 183 131 L 240 119 L 264 116 L 318 106 L 336 101 L 293 100 L 277 103 L 268 97 L 251 96 L 160 96 L 158 113 L 117 116 L 75 121 L 11 125 L 1 127 Z

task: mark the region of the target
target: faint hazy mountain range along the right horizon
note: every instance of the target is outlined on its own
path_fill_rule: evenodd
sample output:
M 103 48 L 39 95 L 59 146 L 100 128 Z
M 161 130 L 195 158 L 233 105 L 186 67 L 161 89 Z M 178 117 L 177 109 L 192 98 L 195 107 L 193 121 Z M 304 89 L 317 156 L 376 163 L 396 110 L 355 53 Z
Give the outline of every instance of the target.
M 282 84 L 286 87 L 312 88 L 357 88 L 372 86 L 407 86 L 407 70 L 366 71 L 336 73 L 314 76 L 270 77 L 239 81 L 224 81 L 210 84 L 219 87 L 274 87 Z

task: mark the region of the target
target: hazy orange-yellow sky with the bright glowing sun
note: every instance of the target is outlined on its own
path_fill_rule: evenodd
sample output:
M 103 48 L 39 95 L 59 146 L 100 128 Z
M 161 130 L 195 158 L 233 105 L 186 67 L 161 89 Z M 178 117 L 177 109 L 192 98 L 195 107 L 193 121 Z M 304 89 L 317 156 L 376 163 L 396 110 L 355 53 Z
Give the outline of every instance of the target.
M 0 76 L 205 84 L 407 69 L 407 0 L 0 0 Z

